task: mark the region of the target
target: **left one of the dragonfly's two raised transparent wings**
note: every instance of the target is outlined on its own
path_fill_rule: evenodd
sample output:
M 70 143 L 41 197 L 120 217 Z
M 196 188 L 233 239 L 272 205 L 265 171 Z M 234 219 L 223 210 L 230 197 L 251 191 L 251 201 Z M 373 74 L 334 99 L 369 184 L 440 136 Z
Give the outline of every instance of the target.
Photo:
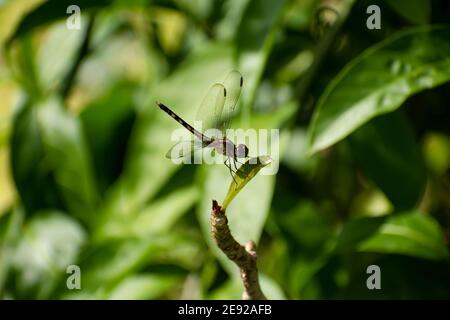
M 195 117 L 197 121 L 196 126 L 199 125 L 198 121 L 201 121 L 202 132 L 212 128 L 219 129 L 218 124 L 221 119 L 226 94 L 225 87 L 221 83 L 216 83 L 209 89 Z M 198 129 L 200 130 L 200 128 Z

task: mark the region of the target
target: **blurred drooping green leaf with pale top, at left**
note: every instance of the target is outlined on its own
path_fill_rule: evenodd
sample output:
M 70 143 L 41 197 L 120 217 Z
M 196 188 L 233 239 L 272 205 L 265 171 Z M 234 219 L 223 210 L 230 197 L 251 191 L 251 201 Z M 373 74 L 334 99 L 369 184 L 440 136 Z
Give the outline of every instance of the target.
M 45 157 L 57 186 L 69 210 L 89 222 L 99 195 L 80 122 L 58 99 L 36 108 Z

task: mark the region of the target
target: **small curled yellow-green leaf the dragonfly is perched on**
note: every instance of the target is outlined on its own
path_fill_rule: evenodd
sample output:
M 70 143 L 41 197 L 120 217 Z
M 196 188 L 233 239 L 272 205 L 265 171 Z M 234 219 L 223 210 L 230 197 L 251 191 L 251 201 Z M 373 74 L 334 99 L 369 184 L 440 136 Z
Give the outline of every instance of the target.
M 231 181 L 228 193 L 223 200 L 222 208 L 226 209 L 239 191 L 261 170 L 263 167 L 269 165 L 272 159 L 269 156 L 259 156 L 247 160 L 234 175 L 234 180 Z

